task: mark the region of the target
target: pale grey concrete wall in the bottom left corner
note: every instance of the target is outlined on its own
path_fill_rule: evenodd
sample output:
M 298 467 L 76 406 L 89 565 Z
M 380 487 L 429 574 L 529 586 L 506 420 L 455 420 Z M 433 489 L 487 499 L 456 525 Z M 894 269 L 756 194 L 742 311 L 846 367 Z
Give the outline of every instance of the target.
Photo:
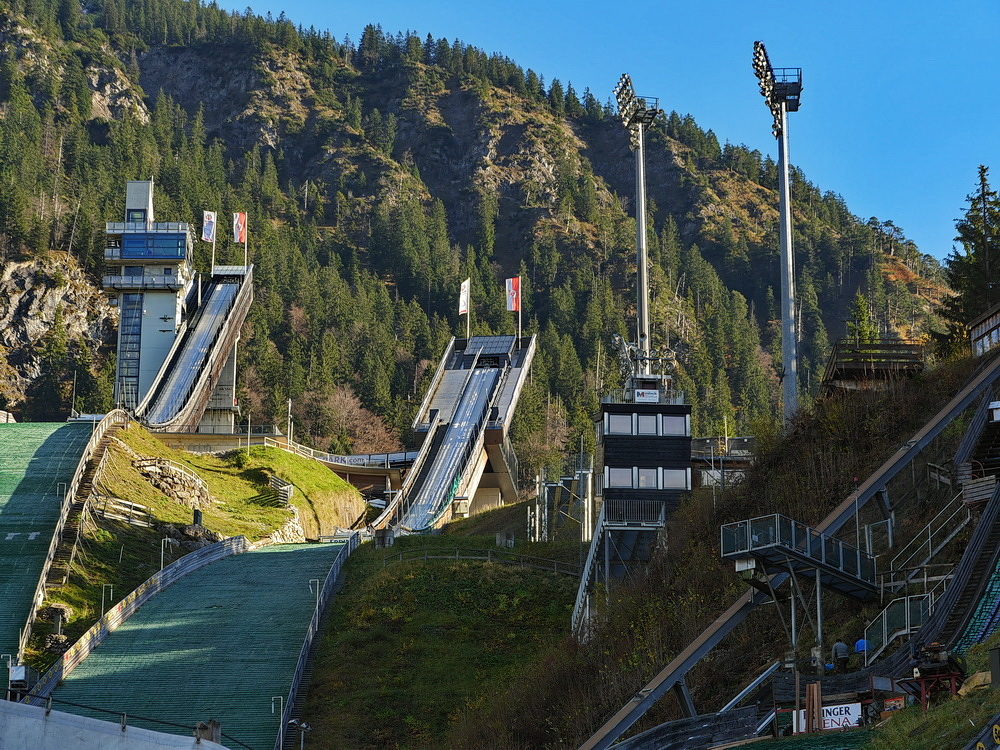
M 0 700 L 0 747 L 3 750 L 226 750 L 208 740 L 197 743 L 193 734 L 151 732 L 139 727 L 127 727 L 123 732 L 117 723 L 88 719 L 83 716 L 36 708 L 23 703 Z

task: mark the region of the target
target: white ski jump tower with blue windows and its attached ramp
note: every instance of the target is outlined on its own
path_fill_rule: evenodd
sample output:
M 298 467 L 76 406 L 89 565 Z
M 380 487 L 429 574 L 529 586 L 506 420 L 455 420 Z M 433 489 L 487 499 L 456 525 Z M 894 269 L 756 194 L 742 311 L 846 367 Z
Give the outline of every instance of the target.
M 251 267 L 216 267 L 203 284 L 190 225 L 155 220 L 151 181 L 126 183 L 125 221 L 105 232 L 103 287 L 120 310 L 115 403 L 154 429 L 233 433 Z

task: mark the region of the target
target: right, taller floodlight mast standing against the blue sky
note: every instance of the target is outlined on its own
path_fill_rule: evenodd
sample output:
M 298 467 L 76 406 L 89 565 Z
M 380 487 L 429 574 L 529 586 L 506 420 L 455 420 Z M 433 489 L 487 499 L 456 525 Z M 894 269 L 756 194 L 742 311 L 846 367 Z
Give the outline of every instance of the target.
M 795 327 L 795 259 L 792 253 L 792 203 L 788 182 L 788 113 L 799 108 L 802 68 L 771 66 L 763 42 L 753 43 L 753 72 L 760 93 L 774 117 L 771 132 L 778 139 L 778 195 L 781 240 L 781 362 L 783 416 L 787 425 L 799 409 L 798 357 Z

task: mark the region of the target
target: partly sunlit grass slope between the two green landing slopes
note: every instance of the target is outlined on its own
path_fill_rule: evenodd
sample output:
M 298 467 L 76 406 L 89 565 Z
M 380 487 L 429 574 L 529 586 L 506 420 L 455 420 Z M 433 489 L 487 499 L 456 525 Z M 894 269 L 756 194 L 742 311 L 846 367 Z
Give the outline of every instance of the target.
M 291 511 L 276 505 L 268 492 L 271 474 L 295 485 L 292 502 L 299 509 L 307 536 L 348 526 L 365 509 L 360 493 L 328 468 L 276 448 L 255 447 L 249 458 L 246 451 L 224 456 L 187 453 L 168 448 L 135 424 L 119 433 L 119 438 L 136 453 L 169 459 L 198 474 L 214 501 L 203 510 L 202 524 L 224 537 L 242 534 L 256 541 L 291 520 Z M 146 506 L 154 526 L 130 526 L 91 515 L 69 582 L 47 592 L 47 605 L 65 604 L 71 608 L 63 628 L 69 643 L 101 616 L 102 597 L 105 607 L 120 601 L 160 569 L 161 554 L 163 562 L 169 564 L 188 552 L 183 547 L 164 545 L 162 540 L 164 524 L 190 524 L 192 509 L 171 500 L 146 481 L 120 446 L 110 447 L 96 489 Z M 27 660 L 37 669 L 47 668 L 56 658 L 44 645 L 52 631 L 52 624 L 46 621 L 37 622 L 33 629 Z

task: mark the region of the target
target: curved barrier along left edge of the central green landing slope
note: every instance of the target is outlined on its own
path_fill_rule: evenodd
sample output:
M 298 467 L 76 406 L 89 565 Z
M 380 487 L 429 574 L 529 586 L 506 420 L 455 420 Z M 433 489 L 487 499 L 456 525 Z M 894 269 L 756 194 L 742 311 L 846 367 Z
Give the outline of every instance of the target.
M 42 705 L 44 699 L 52 692 L 52 689 L 55 688 L 60 680 L 76 669 L 80 662 L 101 641 L 135 614 L 139 607 L 157 593 L 167 588 L 167 586 L 186 576 L 188 573 L 203 568 L 209 563 L 229 557 L 230 555 L 246 552 L 248 549 L 250 549 L 250 543 L 246 540 L 246 537 L 230 537 L 229 539 L 223 539 L 221 542 L 216 542 L 208 547 L 202 547 L 200 550 L 191 552 L 179 560 L 170 563 L 163 570 L 154 573 L 145 583 L 109 609 L 86 633 L 80 636 L 77 642 L 59 657 L 59 661 L 53 664 L 49 671 L 42 675 L 42 678 L 21 702 L 31 703 L 35 706 Z

